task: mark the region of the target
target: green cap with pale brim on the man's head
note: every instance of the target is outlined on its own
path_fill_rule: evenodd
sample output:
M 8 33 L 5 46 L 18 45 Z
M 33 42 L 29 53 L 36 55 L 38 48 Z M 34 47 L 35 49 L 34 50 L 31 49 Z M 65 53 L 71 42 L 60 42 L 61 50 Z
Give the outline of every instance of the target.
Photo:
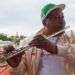
M 48 14 L 50 14 L 56 8 L 60 8 L 63 10 L 65 8 L 65 4 L 55 5 L 55 4 L 47 4 L 41 10 L 41 19 L 44 20 Z

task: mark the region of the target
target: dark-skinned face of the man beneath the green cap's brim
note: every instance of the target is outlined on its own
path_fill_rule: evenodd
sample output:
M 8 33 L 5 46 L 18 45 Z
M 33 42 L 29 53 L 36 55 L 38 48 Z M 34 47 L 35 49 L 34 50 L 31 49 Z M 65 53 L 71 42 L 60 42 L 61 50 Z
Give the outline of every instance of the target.
M 49 31 L 59 31 L 64 28 L 65 20 L 61 9 L 55 9 L 46 19 L 46 27 Z

